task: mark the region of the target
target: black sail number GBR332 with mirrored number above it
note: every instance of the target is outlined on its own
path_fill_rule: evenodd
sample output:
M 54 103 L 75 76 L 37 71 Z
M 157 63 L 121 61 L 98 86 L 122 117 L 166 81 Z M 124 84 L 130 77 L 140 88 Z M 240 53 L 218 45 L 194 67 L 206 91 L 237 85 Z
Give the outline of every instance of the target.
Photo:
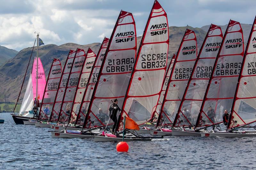
M 141 62 L 141 68 L 142 69 L 157 69 L 162 68 L 166 66 L 166 53 L 160 53 L 160 54 L 142 54 L 141 55 L 142 62 Z

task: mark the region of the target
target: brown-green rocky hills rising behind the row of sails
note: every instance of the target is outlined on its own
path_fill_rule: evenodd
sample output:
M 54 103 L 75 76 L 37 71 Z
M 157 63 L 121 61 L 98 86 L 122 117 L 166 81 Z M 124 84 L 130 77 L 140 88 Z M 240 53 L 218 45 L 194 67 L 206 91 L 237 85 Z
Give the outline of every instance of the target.
M 227 26 L 221 26 L 223 29 L 223 33 L 226 30 Z M 242 25 L 244 30 L 244 40 L 247 41 L 249 32 L 251 30 L 251 26 L 244 24 Z M 204 37 L 206 35 L 206 32 L 209 29 L 209 26 L 203 26 L 202 28 L 193 28 L 191 26 L 184 26 L 184 27 L 177 27 L 177 26 L 170 26 L 169 27 L 169 51 L 168 51 L 168 63 L 170 62 L 170 58 L 172 57 L 173 53 L 176 53 L 180 41 L 184 35 L 184 32 L 186 28 L 191 29 L 195 31 L 196 38 L 197 38 L 197 47 L 198 50 L 201 48 L 201 45 L 204 41 Z M 247 39 L 246 39 L 247 36 Z M 137 38 L 137 46 L 139 47 L 141 37 Z M 79 45 L 75 43 L 66 43 L 60 46 L 49 44 L 39 47 L 39 57 L 41 58 L 41 61 L 44 66 L 44 71 L 46 78 L 49 73 L 49 69 L 52 63 L 53 58 L 60 59 L 62 66 L 65 63 L 65 60 L 68 55 L 69 49 L 76 50 L 76 48 L 82 48 L 87 51 L 88 47 L 90 47 L 95 54 L 98 53 L 98 50 L 100 48 L 100 43 L 92 43 L 87 45 Z M 28 60 L 31 55 L 32 47 L 30 48 L 24 48 L 22 49 L 14 58 L 10 59 L 8 62 L 6 62 L 4 65 L 0 66 L 0 102 L 7 98 L 7 101 L 15 102 L 17 100 L 17 95 L 19 94 L 21 83 L 28 65 Z M 34 50 L 32 56 L 36 56 L 36 50 Z M 31 61 L 32 63 L 32 61 Z M 31 64 L 28 69 L 28 73 L 31 71 Z M 27 77 L 25 79 L 25 83 L 23 86 L 23 90 L 20 96 L 20 103 L 22 101 L 29 74 L 27 73 Z

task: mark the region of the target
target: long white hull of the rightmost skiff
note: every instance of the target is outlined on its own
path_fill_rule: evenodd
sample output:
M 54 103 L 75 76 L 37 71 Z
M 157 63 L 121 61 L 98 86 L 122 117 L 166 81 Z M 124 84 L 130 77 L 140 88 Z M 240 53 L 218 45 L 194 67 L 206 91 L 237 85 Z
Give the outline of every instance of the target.
M 256 133 L 207 133 L 207 132 L 202 132 L 201 137 L 256 137 Z

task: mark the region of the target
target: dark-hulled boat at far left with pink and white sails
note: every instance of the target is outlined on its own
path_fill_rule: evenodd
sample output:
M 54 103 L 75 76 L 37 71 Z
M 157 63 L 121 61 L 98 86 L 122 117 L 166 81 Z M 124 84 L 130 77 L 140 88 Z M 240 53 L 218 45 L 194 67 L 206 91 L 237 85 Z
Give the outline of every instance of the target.
M 34 47 L 32 49 L 27 70 L 20 88 L 20 93 L 18 95 L 18 99 L 12 113 L 12 118 L 16 124 L 24 124 L 23 121 L 28 121 L 28 120 L 36 121 L 40 103 L 42 101 L 40 99 L 40 96 L 42 97 L 44 94 L 44 87 L 45 87 L 46 81 L 45 81 L 43 64 L 41 63 L 40 58 L 38 58 L 38 47 L 39 47 L 39 44 L 41 45 L 41 41 L 42 41 L 40 39 L 40 43 L 39 43 L 39 34 L 37 34 L 36 40 L 37 40 L 37 56 L 33 60 L 32 70 L 28 79 L 28 84 L 27 84 L 27 88 L 26 88 L 22 103 L 21 103 L 20 111 L 18 115 L 16 115 L 14 112 L 19 101 L 20 93 L 25 81 L 25 77 L 28 71 L 28 66 L 30 63 L 30 59 L 31 59 Z

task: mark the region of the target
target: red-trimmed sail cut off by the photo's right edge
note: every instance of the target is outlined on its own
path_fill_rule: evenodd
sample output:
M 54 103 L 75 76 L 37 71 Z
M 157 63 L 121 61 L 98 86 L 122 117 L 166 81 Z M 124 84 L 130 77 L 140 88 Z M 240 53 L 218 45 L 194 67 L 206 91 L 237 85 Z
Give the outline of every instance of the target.
M 244 57 L 229 128 L 256 122 L 256 18 Z

